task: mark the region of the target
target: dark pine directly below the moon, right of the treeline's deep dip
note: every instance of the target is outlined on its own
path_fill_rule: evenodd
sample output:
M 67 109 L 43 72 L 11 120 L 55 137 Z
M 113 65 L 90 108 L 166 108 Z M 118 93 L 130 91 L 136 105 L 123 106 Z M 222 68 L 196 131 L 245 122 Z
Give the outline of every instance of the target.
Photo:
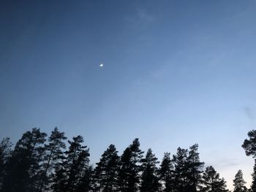
M 95 168 L 95 191 L 117 191 L 119 156 L 115 145 L 110 145 L 102 154 Z

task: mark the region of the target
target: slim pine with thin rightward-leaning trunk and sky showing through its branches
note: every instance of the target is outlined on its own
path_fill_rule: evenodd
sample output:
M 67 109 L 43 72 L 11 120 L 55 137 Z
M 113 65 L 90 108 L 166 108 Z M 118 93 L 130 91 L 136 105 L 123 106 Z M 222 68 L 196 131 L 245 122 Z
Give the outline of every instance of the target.
M 39 191 L 42 191 L 43 188 L 47 188 L 47 185 L 50 182 L 50 175 L 53 174 L 53 167 L 56 167 L 56 164 L 61 161 L 63 158 L 62 150 L 66 148 L 64 140 L 67 137 L 64 136 L 63 132 L 60 132 L 58 128 L 54 128 L 51 132 L 50 137 L 48 138 L 48 144 L 45 145 L 45 156 L 42 172 L 42 181 L 40 183 Z

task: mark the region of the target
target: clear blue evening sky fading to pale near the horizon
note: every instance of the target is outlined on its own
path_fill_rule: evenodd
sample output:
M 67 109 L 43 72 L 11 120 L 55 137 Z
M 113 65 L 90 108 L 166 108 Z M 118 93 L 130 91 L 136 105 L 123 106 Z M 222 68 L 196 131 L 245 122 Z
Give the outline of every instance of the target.
M 83 135 L 91 164 L 133 139 L 198 143 L 229 188 L 253 159 L 256 1 L 0 1 L 0 137 Z M 104 64 L 100 67 L 100 64 Z

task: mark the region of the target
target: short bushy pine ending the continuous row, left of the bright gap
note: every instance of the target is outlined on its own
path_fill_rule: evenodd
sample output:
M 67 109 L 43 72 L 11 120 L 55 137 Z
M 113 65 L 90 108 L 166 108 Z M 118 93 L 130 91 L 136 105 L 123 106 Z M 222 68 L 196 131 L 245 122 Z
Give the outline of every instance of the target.
M 219 178 L 212 166 L 207 166 L 206 171 L 203 172 L 203 192 L 228 192 L 227 185 L 224 178 Z

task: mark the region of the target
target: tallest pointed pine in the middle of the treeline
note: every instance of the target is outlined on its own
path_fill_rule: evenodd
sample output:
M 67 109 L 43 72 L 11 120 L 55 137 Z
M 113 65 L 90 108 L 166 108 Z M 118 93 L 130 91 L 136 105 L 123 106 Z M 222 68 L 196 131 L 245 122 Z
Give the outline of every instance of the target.
M 135 139 L 121 155 L 118 185 L 121 192 L 138 191 L 140 183 L 140 160 L 143 152 L 140 150 L 139 139 Z

